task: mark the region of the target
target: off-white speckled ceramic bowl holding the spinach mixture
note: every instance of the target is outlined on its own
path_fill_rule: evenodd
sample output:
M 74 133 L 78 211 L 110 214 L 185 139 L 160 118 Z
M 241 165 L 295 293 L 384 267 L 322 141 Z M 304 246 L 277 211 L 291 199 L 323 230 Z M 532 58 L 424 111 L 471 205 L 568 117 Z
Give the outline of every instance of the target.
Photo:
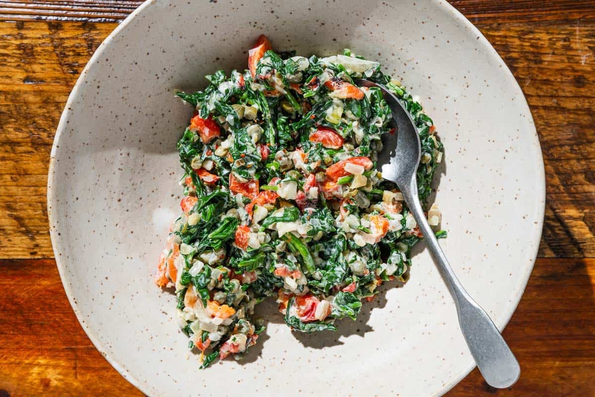
M 203 86 L 215 68 L 245 68 L 261 33 L 299 54 L 352 48 L 421 96 L 446 147 L 441 245 L 497 326 L 508 322 L 541 234 L 540 145 L 506 65 L 438 0 L 158 0 L 133 12 L 84 69 L 52 149 L 51 236 L 73 309 L 107 360 L 152 396 L 439 396 L 474 362 L 425 251 L 405 287 L 384 289 L 336 333 L 292 333 L 264 304 L 260 347 L 204 371 L 178 330 L 174 296 L 152 281 L 179 211 L 176 141 L 192 114 L 174 90 Z

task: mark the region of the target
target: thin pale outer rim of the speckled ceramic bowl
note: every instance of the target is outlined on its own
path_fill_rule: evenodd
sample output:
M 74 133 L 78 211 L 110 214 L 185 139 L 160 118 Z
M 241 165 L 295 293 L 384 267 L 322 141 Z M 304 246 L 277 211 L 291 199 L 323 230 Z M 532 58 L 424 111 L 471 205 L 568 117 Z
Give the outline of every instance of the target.
M 62 132 L 64 132 L 64 130 L 65 130 L 65 127 L 67 124 L 67 119 L 70 116 L 71 104 L 73 104 L 73 102 L 75 101 L 75 98 L 77 97 L 79 87 L 82 85 L 82 83 L 86 77 L 87 70 L 89 70 L 91 65 L 95 64 L 96 61 L 99 60 L 99 58 L 101 58 L 105 47 L 111 42 L 111 40 L 114 39 L 114 37 L 116 37 L 122 30 L 126 29 L 128 24 L 134 18 L 136 18 L 137 15 L 139 15 L 140 13 L 145 11 L 145 8 L 148 8 L 150 5 L 154 4 L 155 1 L 156 0 L 145 0 L 145 2 L 143 2 L 138 8 L 136 8 L 136 10 L 131 12 L 131 14 L 128 15 L 128 17 L 126 17 L 126 19 L 124 19 L 124 21 L 122 21 L 111 33 L 109 33 L 109 35 L 105 38 L 105 40 L 98 46 L 95 53 L 92 55 L 92 57 L 89 59 L 89 61 L 83 68 L 83 71 L 80 73 L 79 78 L 77 79 L 72 91 L 70 92 L 70 95 L 68 96 L 67 102 L 64 107 L 64 111 L 62 112 L 60 121 L 58 123 L 57 130 L 56 130 L 56 133 L 54 136 L 54 143 L 52 145 L 52 151 L 51 151 L 51 155 L 50 155 L 49 170 L 48 170 L 48 185 L 47 185 L 47 208 L 48 208 L 48 220 L 49 220 L 49 225 L 50 225 L 49 231 L 50 231 L 50 237 L 51 237 L 51 241 L 52 241 L 52 248 L 54 250 L 54 257 L 55 257 L 56 265 L 58 267 L 58 273 L 60 274 L 60 279 L 62 281 L 62 285 L 64 286 L 66 296 L 68 298 L 68 301 L 70 302 L 71 307 L 73 308 L 74 314 L 76 315 L 77 320 L 79 320 L 80 325 L 83 327 L 84 332 L 87 334 L 87 336 L 89 337 L 89 339 L 91 340 L 91 342 L 93 343 L 95 348 L 98 349 L 98 351 L 101 353 L 101 355 L 109 362 L 109 364 L 112 365 L 112 367 L 115 368 L 115 370 L 118 371 L 118 373 L 120 373 L 124 377 L 124 379 L 126 379 L 128 382 L 130 382 L 132 385 L 134 385 L 141 392 L 145 393 L 145 395 L 149 395 L 149 391 L 148 391 L 150 389 L 149 386 L 145 382 L 141 382 L 139 379 L 137 379 L 136 377 L 131 375 L 131 373 L 129 371 L 125 370 L 123 365 L 120 364 L 120 362 L 118 362 L 118 360 L 116 360 L 115 357 L 112 357 L 112 355 L 109 354 L 108 349 L 106 349 L 104 346 L 104 343 L 100 342 L 99 337 L 96 336 L 93 333 L 93 330 L 90 329 L 89 325 L 83 321 L 82 313 L 80 313 L 79 310 L 77 310 L 77 308 L 76 308 L 76 304 L 73 300 L 73 293 L 71 292 L 71 287 L 65 281 L 65 273 L 66 273 L 65 264 L 61 262 L 60 255 L 57 255 L 57 253 L 60 251 L 59 249 L 57 249 L 57 247 L 61 245 L 61 241 L 60 241 L 61 238 L 60 238 L 60 236 L 58 236 L 57 232 L 54 232 L 52 230 L 52 227 L 51 227 L 52 224 L 55 224 L 55 218 L 53 215 L 52 207 L 54 207 L 55 203 L 56 203 L 55 196 L 54 196 L 55 190 L 52 189 L 52 185 L 54 185 L 54 183 L 53 183 L 54 177 L 53 176 L 55 175 L 55 173 L 54 173 L 54 167 L 55 167 L 54 158 L 55 158 L 55 154 L 59 147 L 60 137 L 62 135 Z M 518 82 L 516 82 L 516 79 L 513 76 L 511 70 L 508 68 L 508 65 L 506 65 L 506 63 L 502 60 L 502 57 L 500 57 L 500 55 L 498 54 L 496 49 L 493 48 L 493 46 L 486 39 L 486 37 L 483 35 L 483 33 L 481 33 L 480 30 L 477 29 L 477 27 L 475 27 L 475 25 L 472 24 L 471 21 L 469 21 L 459 10 L 457 10 L 455 7 L 453 7 L 449 3 L 442 2 L 440 0 L 430 0 L 430 2 L 433 3 L 436 7 L 449 8 L 449 11 L 452 12 L 453 17 L 455 17 L 458 21 L 460 21 L 464 25 L 464 27 L 468 28 L 469 30 L 471 30 L 471 32 L 474 32 L 475 35 L 477 35 L 478 45 L 483 47 L 483 51 L 486 51 L 488 54 L 490 54 L 491 57 L 493 57 L 494 61 L 496 61 L 497 64 L 502 66 L 504 73 L 508 74 L 508 77 L 510 77 L 510 79 L 512 79 L 512 82 L 514 82 L 513 89 L 516 91 L 519 98 L 522 98 L 521 103 L 519 104 L 520 110 L 521 110 L 522 114 L 526 115 L 528 120 L 531 122 L 531 130 L 532 130 L 531 132 L 533 132 L 533 134 L 532 134 L 533 144 L 541 152 L 541 145 L 540 145 L 537 131 L 535 128 L 535 124 L 533 123 L 533 115 L 531 115 L 531 110 L 527 103 L 527 99 L 525 98 L 525 95 L 522 92 L 521 87 L 518 85 Z M 539 183 L 537 186 L 538 191 L 535 192 L 536 193 L 535 196 L 537 198 L 543 198 L 543 200 L 541 200 L 540 208 L 537 208 L 537 211 L 536 211 L 537 215 L 538 215 L 537 216 L 538 227 L 533 229 L 533 230 L 536 230 L 536 232 L 533 233 L 533 236 L 530 236 L 531 237 L 530 239 L 533 242 L 536 242 L 533 245 L 534 246 L 533 255 L 532 255 L 533 260 L 531 261 L 530 266 L 528 266 L 526 268 L 525 273 L 522 274 L 522 277 L 524 280 L 522 282 L 522 288 L 519 289 L 519 292 L 524 292 L 525 288 L 527 287 L 529 277 L 531 276 L 531 272 L 533 271 L 533 266 L 537 259 L 537 252 L 539 249 L 538 242 L 541 239 L 541 230 L 543 229 L 543 222 L 544 222 L 544 214 L 545 214 L 545 206 L 546 206 L 546 200 L 545 200 L 546 178 L 545 178 L 545 168 L 544 168 L 544 164 L 543 164 L 543 155 L 537 156 L 536 161 L 538 163 L 538 164 L 536 164 L 537 165 L 537 173 L 538 173 L 538 177 L 539 177 L 538 182 L 541 182 L 541 183 Z M 523 295 L 523 293 L 519 293 L 518 295 L 516 295 L 515 301 L 511 302 L 511 305 L 509 305 L 509 311 L 506 313 L 505 321 L 503 322 L 503 326 L 500 329 L 500 332 L 502 332 L 504 327 L 506 327 L 506 324 L 508 324 L 508 322 L 511 320 L 511 317 L 512 317 L 513 313 L 515 312 L 516 307 L 518 307 L 518 304 L 521 301 L 522 295 Z M 464 370 L 462 370 L 458 375 L 453 377 L 453 379 L 449 380 L 449 382 L 444 383 L 444 386 L 440 390 L 437 390 L 430 397 L 439 397 L 441 395 L 444 395 L 444 393 L 448 392 L 450 389 L 452 389 L 454 386 L 456 386 L 459 382 L 461 382 L 461 380 L 464 379 L 464 377 L 466 377 L 469 373 L 471 373 L 471 371 L 475 368 L 475 366 L 476 366 L 475 362 L 473 360 L 471 360 L 469 362 L 469 364 L 466 365 Z

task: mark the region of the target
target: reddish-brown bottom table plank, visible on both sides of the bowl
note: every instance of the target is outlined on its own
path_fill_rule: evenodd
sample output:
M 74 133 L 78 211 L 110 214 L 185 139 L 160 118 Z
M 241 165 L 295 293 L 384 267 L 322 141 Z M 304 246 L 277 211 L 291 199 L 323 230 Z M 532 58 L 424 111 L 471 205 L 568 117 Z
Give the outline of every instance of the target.
M 141 395 L 93 348 L 64 295 L 54 260 L 4 260 L 0 268 L 5 276 L 0 279 L 0 396 L 2 390 L 13 397 Z M 537 260 L 504 333 L 522 377 L 497 395 L 593 396 L 594 286 L 593 259 Z M 475 370 L 447 396 L 493 393 Z

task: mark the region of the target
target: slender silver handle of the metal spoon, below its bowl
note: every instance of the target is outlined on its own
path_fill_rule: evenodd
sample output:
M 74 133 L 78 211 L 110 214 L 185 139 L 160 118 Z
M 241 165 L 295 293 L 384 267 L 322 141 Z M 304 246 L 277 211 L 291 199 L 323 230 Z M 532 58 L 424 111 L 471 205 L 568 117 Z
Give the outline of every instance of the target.
M 502 335 L 480 305 L 478 305 L 463 288 L 444 252 L 438 244 L 428 221 L 425 218 L 418 198 L 415 174 L 409 186 L 401 187 L 403 199 L 411 210 L 419 229 L 424 235 L 425 243 L 434 258 L 451 295 L 455 299 L 456 310 L 459 315 L 461 331 L 481 375 L 488 385 L 503 389 L 512 386 L 521 374 L 518 361 L 506 345 Z M 403 189 L 404 188 L 404 189 Z

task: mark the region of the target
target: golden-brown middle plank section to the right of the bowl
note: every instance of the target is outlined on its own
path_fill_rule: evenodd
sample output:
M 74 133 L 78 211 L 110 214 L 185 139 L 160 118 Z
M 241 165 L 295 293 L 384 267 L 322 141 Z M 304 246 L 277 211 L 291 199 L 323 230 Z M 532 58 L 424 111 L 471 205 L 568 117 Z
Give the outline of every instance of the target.
M 595 257 L 594 21 L 480 29 L 515 75 L 540 137 L 547 208 L 539 255 Z

